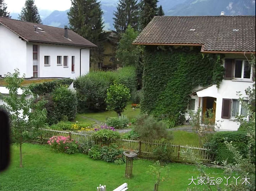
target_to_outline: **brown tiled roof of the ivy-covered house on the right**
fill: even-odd
[[[133,43],[201,45],[202,52],[255,52],[255,16],[155,16]]]

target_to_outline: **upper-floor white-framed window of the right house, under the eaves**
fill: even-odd
[[[247,60],[235,61],[235,78],[251,79],[251,65]]]

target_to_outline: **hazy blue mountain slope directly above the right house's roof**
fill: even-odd
[[[170,16],[255,15],[255,0],[186,0],[165,12]]]

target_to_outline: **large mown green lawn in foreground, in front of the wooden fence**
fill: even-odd
[[[124,178],[126,165],[95,161],[83,154],[55,153],[48,146],[23,144],[23,168],[19,167],[18,147],[12,146],[9,169],[0,174],[0,190],[86,190],[95,191],[99,184],[107,190],[128,183],[130,191],[153,190],[154,177],[150,175],[151,161],[135,160],[133,178]],[[198,177],[194,165],[170,163],[161,172],[160,191],[186,190],[191,176]],[[222,177],[223,170],[207,168],[211,177]],[[202,189],[202,186],[197,186]]]

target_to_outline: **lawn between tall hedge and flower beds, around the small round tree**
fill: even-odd
[[[129,101],[127,103],[126,109],[122,113],[122,115],[128,117],[129,119],[136,118],[140,114],[140,108],[136,108],[135,111],[133,111],[131,105],[132,105],[132,102]],[[96,120],[101,121],[101,122],[106,122],[107,118],[116,117],[117,113],[114,112],[114,111],[104,111],[104,112],[96,112],[96,113],[82,113],[82,114],[78,114],[76,116],[75,120],[76,121],[84,120],[81,116],[96,119]]]

